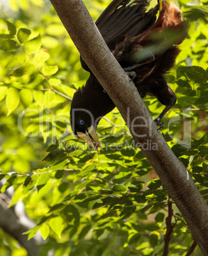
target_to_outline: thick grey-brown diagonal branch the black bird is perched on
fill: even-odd
[[[164,183],[204,255],[208,255],[208,207],[185,166],[154,124],[133,82],[108,49],[81,0],[50,0],[75,46],[112,98],[146,159]],[[141,125],[141,121],[143,125]],[[144,124],[145,122],[145,124]],[[144,143],[157,150],[144,150]]]

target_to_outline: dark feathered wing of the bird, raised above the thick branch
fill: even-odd
[[[154,24],[158,6],[146,11],[148,0],[114,0],[96,21],[110,50],[126,36],[133,38]]]

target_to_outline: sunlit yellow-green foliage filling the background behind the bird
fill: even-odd
[[[179,3],[190,32],[169,73],[178,101],[162,132],[207,201],[207,2]],[[79,53],[49,3],[8,4],[0,20],[1,192],[13,186],[10,206],[22,200],[36,221],[29,239],[41,232],[41,255],[161,255],[168,195],[157,174],[116,109],[98,127],[103,152],[72,136],[70,101],[88,77]],[[108,4],[86,1],[94,20]],[[164,108],[153,97],[145,104],[152,117]],[[172,222],[169,255],[185,255],[192,235],[176,208]],[[1,255],[23,255],[0,236]]]

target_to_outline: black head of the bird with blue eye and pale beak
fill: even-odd
[[[86,97],[82,89],[75,92],[70,110],[70,123],[74,135],[83,139],[89,146],[98,151],[101,148],[96,135],[99,119],[94,119],[94,108],[91,108],[90,97]],[[97,121],[97,122],[96,122]],[[103,150],[101,148],[101,150]]]

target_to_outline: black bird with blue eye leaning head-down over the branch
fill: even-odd
[[[160,0],[155,8],[146,11],[148,5],[148,0],[114,0],[96,25],[115,59],[134,76],[141,97],[155,96],[166,106],[155,120],[162,127],[160,119],[176,103],[176,95],[165,75],[174,66],[180,52],[178,45],[186,38],[188,29],[181,10],[172,1]],[[75,136],[98,151],[101,145],[96,127],[115,104],[82,57],[81,64],[90,75],[86,85],[74,94],[70,122]]]

